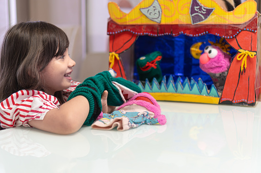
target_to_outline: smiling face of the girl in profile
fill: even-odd
[[[69,88],[74,65],[75,62],[69,57],[68,48],[63,56],[54,57],[42,72],[45,92],[53,95],[56,91]]]

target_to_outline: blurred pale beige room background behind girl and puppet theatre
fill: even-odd
[[[108,2],[129,12],[142,0],[0,0],[0,44],[6,30],[21,21],[42,20],[63,29],[70,40],[69,54],[76,62],[73,79],[82,81],[108,70]],[[245,0],[242,0],[245,1]],[[257,2],[259,11],[260,0]]]

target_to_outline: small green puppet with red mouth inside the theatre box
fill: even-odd
[[[136,61],[137,72],[140,81],[146,81],[146,78],[152,83],[153,78],[160,84],[162,82],[162,70],[159,63],[162,59],[162,53],[159,51],[152,52]]]

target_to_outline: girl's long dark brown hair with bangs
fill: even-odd
[[[42,70],[52,58],[62,56],[68,46],[65,32],[53,24],[30,21],[11,27],[0,55],[0,102],[22,89],[44,91]],[[54,96],[64,103],[62,91]]]

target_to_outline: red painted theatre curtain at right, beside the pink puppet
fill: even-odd
[[[244,65],[243,71],[241,71],[243,59],[237,59],[240,54],[237,52],[231,63],[220,103],[225,101],[233,104],[246,102],[248,105],[255,105],[257,32],[242,31],[236,37],[226,40],[235,50],[249,51],[255,56],[253,58],[247,56],[247,66]]]

